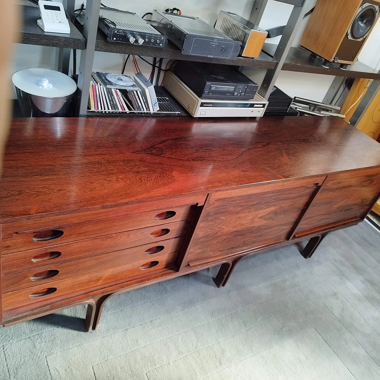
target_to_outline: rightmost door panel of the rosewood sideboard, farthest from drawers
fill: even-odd
[[[296,229],[295,236],[323,230],[331,223],[362,219],[380,192],[380,169],[332,174]]]

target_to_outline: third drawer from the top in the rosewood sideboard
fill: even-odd
[[[157,257],[163,260],[171,256],[172,253],[176,253],[177,255],[181,242],[182,237],[175,237],[174,239],[139,245],[138,247],[123,249],[117,252],[6,274],[2,277],[3,293],[48,284],[71,277],[81,277],[96,273],[99,269],[103,270],[114,266],[120,267],[123,270],[139,268],[141,263],[156,261]]]

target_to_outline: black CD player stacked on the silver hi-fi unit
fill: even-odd
[[[259,87],[228,65],[177,61],[174,72],[199,98],[252,99]]]

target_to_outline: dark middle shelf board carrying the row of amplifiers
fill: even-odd
[[[184,61],[197,61],[197,62],[209,62],[209,63],[219,63],[223,65],[235,65],[235,66],[248,66],[248,67],[258,67],[264,69],[274,69],[277,62],[273,60],[269,55],[264,52],[260,53],[258,58],[242,58],[238,57],[235,60],[230,59],[220,59],[220,58],[207,58],[207,57],[195,57],[193,55],[182,54],[180,49],[178,49],[173,44],[168,43],[164,48],[144,46],[144,45],[133,45],[128,43],[114,43],[108,42],[106,36],[103,32],[98,30],[97,41],[95,44],[95,51],[103,51],[109,53],[118,54],[134,54],[141,55],[143,57],[157,57],[157,58],[167,58],[167,59],[178,59]]]

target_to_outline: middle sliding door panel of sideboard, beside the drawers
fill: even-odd
[[[188,252],[188,265],[285,241],[324,178],[213,193]]]

